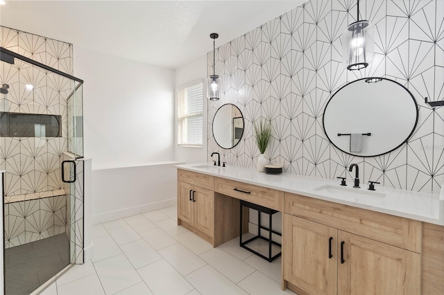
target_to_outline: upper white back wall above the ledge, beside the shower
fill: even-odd
[[[75,46],[74,73],[85,80],[85,155],[93,170],[174,158],[172,69]]]

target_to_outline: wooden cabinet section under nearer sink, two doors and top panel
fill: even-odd
[[[421,293],[421,222],[299,195],[285,197],[284,280],[293,292]],[[390,233],[395,245],[389,244]]]

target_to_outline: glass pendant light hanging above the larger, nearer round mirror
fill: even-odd
[[[366,20],[359,20],[359,0],[357,0],[357,21],[348,25],[342,34],[342,59],[349,71],[366,68],[375,55],[373,26]]]

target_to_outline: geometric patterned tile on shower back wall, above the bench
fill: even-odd
[[[73,71],[72,44],[0,26],[0,46],[65,73]],[[0,111],[62,118],[62,137],[0,138],[0,170],[6,170],[6,196],[63,188],[60,163],[67,150],[66,100],[74,83],[15,59],[15,64],[0,62],[0,84],[9,84],[9,93],[0,95]],[[33,84],[33,91],[26,91],[25,84]]]

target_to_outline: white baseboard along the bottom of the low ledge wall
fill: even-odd
[[[151,204],[144,204],[141,206],[135,206],[125,208],[117,211],[111,211],[108,213],[101,213],[92,215],[92,224],[100,224],[103,222],[110,222],[112,220],[119,220],[121,218],[130,217],[137,214],[142,214],[150,211],[156,211],[159,209],[176,206],[178,204],[177,198],[167,199],[161,202],[155,202]]]

